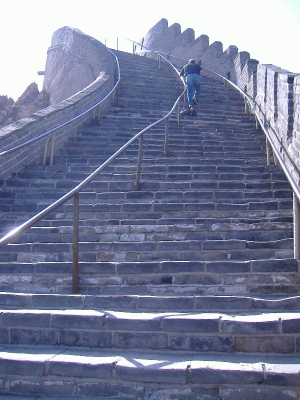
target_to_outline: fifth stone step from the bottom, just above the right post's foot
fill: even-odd
[[[2,261],[70,260],[72,243],[14,243],[0,249]],[[79,242],[79,260],[247,260],[292,255],[291,238],[272,241],[165,240],[142,242]],[[254,253],[254,255],[253,255]],[[252,255],[251,255],[252,254]],[[84,257],[88,257],[87,259]]]

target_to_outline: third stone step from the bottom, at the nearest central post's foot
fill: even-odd
[[[294,312],[300,296],[276,295],[87,295],[0,292],[0,307],[6,309],[111,309],[172,312]]]

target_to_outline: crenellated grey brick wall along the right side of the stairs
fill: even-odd
[[[178,23],[168,27],[164,18],[148,31],[143,44],[185,60],[193,57],[206,68],[230,78],[252,97],[259,107],[265,126],[270,127],[270,135],[289,172],[296,183],[300,183],[299,73],[272,64],[259,64],[250,58],[248,52],[238,52],[235,46],[229,46],[223,51],[220,41],[209,45],[208,36],[203,34],[194,39],[192,29],[188,28],[181,33]],[[141,54],[155,57],[146,51]],[[169,58],[178,67],[185,63],[171,56]],[[208,71],[205,71],[205,76],[220,80]]]

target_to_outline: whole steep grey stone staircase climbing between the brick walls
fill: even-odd
[[[157,61],[117,52],[118,104],[0,191],[0,231],[43,209],[180,90]],[[0,251],[0,400],[300,398],[300,293],[292,192],[233,89],[202,79],[197,117],[144,135],[72,204]],[[49,396],[49,397],[47,397]]]

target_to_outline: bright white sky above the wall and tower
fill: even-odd
[[[189,12],[191,10],[191,12]],[[78,28],[111,48],[132,51],[161,18],[192,28],[209,44],[235,45],[260,63],[300,74],[300,0],[2,0],[0,95],[14,100],[33,81],[42,88],[47,48],[62,26]]]

